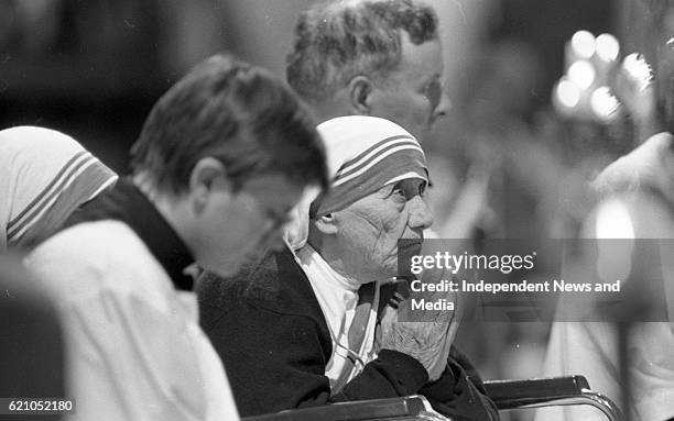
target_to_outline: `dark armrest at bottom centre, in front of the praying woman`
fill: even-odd
[[[246,417],[241,421],[447,421],[433,411],[426,398],[372,399],[331,403],[320,407],[291,409],[264,416]]]

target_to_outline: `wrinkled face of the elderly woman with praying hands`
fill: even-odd
[[[363,282],[395,276],[398,241],[422,240],[433,223],[425,187],[425,180],[403,179],[333,213],[340,272]]]

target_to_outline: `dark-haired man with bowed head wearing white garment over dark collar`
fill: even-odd
[[[305,187],[327,185],[315,124],[270,74],[216,56],[154,104],[131,155],[132,176],[30,256],[63,314],[76,417],[238,419],[189,273],[281,244]]]

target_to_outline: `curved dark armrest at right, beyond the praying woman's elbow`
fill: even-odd
[[[500,410],[589,405],[602,411],[609,420],[622,420],[618,406],[604,395],[591,391],[583,376],[486,381],[485,389]]]

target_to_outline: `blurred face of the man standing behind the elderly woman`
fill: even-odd
[[[374,117],[391,120],[421,140],[449,111],[443,90],[443,49],[438,40],[413,44],[403,31],[399,67],[372,95]]]

